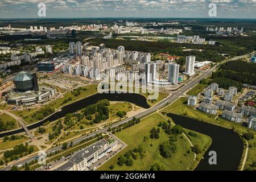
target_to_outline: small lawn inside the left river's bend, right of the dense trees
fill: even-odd
[[[127,113],[133,110],[133,106],[128,102],[117,102],[115,104],[110,104],[108,107],[109,107],[110,120],[119,118],[117,116],[117,111],[126,111]]]

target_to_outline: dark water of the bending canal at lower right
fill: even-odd
[[[237,170],[243,153],[243,143],[236,133],[224,127],[196,121],[195,119],[185,118],[176,114],[168,113],[167,116],[185,129],[197,131],[212,138],[212,144],[207,152],[205,152],[204,159],[200,160],[195,170]],[[216,151],[216,165],[209,164],[209,151]]]

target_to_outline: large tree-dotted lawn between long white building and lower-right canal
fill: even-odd
[[[149,138],[150,130],[152,127],[158,127],[159,122],[166,121],[159,114],[152,114],[134,126],[131,126],[125,130],[115,133],[115,135],[127,144],[121,152],[109,159],[108,162],[103,164],[98,170],[109,170],[109,166],[113,165],[114,170],[149,170],[151,166],[155,163],[162,164],[165,170],[187,170],[189,165],[193,160],[193,153],[187,154],[186,151],[190,149],[190,145],[182,135],[177,137],[177,150],[171,158],[163,158],[159,153],[159,145],[168,140],[168,135],[164,133],[163,129],[160,129],[159,139]],[[144,137],[148,137],[144,142]],[[152,146],[150,144],[152,143]],[[146,158],[133,160],[133,166],[118,166],[117,159],[120,155],[125,154],[126,151],[132,150],[134,147],[138,147],[142,144],[144,150],[146,151]]]

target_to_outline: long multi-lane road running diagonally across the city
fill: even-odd
[[[232,61],[232,60],[238,60],[238,59],[241,59],[242,57],[244,56],[237,56],[237,57],[233,57],[232,59],[229,59],[228,61]],[[216,64],[214,67],[210,68],[208,71],[204,71],[204,72],[201,72],[201,75],[200,76],[197,76],[196,78],[194,78],[194,80],[191,80],[190,82],[188,82],[186,85],[183,85],[179,90],[177,90],[177,92],[174,92],[171,96],[168,96],[166,97],[164,100],[158,102],[158,104],[154,105],[153,107],[151,107],[150,109],[144,111],[143,113],[139,113],[137,115],[135,115],[136,118],[142,118],[150,113],[153,113],[154,111],[166,106],[167,104],[170,104],[171,102],[174,102],[175,100],[177,100],[177,98],[179,98],[180,96],[183,96],[183,94],[185,92],[187,92],[187,90],[189,90],[190,88],[193,88],[193,86],[197,85],[201,79],[209,76],[212,71],[214,71],[214,69],[216,69],[218,67],[218,65],[220,64]],[[118,123],[114,123],[112,125],[112,127],[117,127],[118,125],[121,125],[123,123],[126,123],[128,121],[130,121],[131,119],[133,118],[127,118],[127,119],[124,119],[123,121],[121,122],[118,122]],[[91,134],[88,134],[88,135],[85,135],[81,138],[78,138],[78,139],[75,139],[73,140],[73,145],[77,144],[77,143],[80,143],[81,140],[84,140],[86,138],[89,138],[89,137],[94,137],[95,135],[97,135],[98,133],[104,133],[104,132],[107,132],[108,130],[108,127],[104,128],[104,129],[101,129],[101,130],[98,130],[98,131],[94,131],[93,133]],[[49,154],[51,152],[55,152],[55,151],[59,151],[59,150],[62,150],[61,149],[62,146],[57,146],[57,147],[54,147],[48,151],[46,151],[46,154]],[[25,164],[25,163],[28,163],[30,162],[31,160],[34,160],[36,156],[32,156],[30,158],[27,158],[27,159],[24,159],[20,162],[16,162],[14,165],[15,166],[18,166],[19,164]],[[6,171],[6,170],[9,170],[11,167],[10,166],[7,166],[5,168],[2,168],[0,169],[0,171]]]

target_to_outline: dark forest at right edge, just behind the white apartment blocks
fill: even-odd
[[[256,85],[255,70],[256,65],[254,63],[248,63],[242,60],[229,61],[221,65],[220,69],[212,74],[212,77],[221,77],[221,80],[229,78],[230,80],[237,81],[239,84]]]

